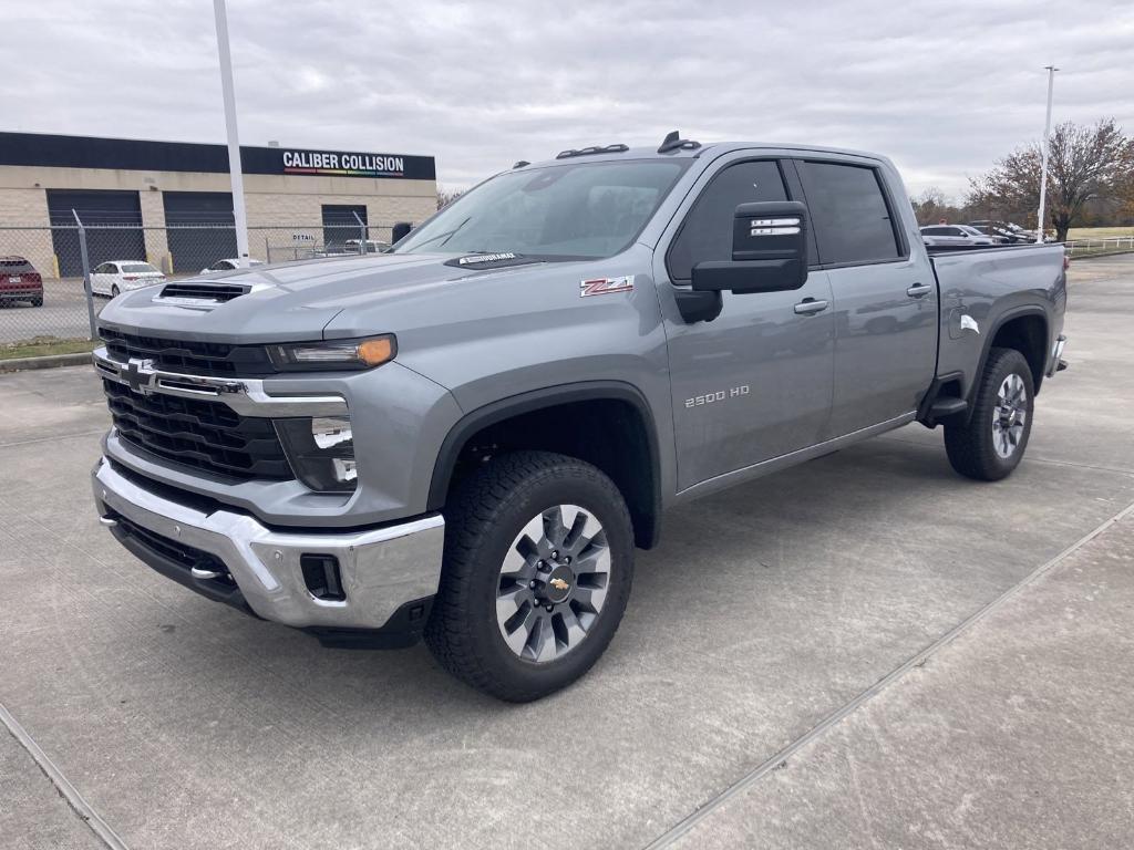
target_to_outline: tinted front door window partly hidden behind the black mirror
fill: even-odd
[[[733,258],[733,216],[741,204],[787,201],[779,163],[737,162],[712,178],[685,216],[667,257],[670,280],[688,282],[693,266]]]

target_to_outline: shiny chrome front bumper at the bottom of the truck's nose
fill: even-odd
[[[151,493],[104,459],[92,484],[101,518],[119,515],[214,555],[265,620],[297,628],[378,629],[403,604],[437,593],[445,545],[440,515],[362,532],[277,532],[244,513],[205,513]],[[338,559],[344,601],[311,595],[299,567],[305,553]]]

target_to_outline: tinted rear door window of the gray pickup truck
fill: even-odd
[[[799,177],[824,264],[902,256],[874,169],[805,162]]]

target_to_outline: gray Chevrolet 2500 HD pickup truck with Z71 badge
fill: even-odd
[[[881,156],[565,151],[389,253],[116,298],[95,503],[198,594],[330,646],[424,636],[535,699],[606,649],[671,505],[912,422],[1008,475],[1063,366],[1065,269],[931,255]]]

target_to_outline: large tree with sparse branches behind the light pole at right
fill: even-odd
[[[1041,161],[1040,144],[1016,148],[991,171],[970,179],[968,205],[1027,220],[1040,205]],[[1092,127],[1072,121],[1058,125],[1050,139],[1047,197],[1056,239],[1067,238],[1088,202],[1120,198],[1132,168],[1134,141],[1123,135],[1112,118]]]

